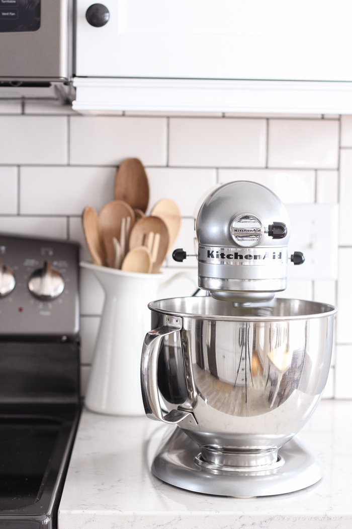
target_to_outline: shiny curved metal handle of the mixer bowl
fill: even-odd
[[[177,424],[188,417],[189,423],[196,425],[197,421],[192,411],[179,409],[180,406],[178,409],[172,409],[168,414],[163,415],[159,398],[157,370],[161,339],[168,334],[181,331],[182,325],[182,318],[167,316],[166,325],[146,334],[140,364],[140,384],[144,409],[149,419],[166,424]]]

